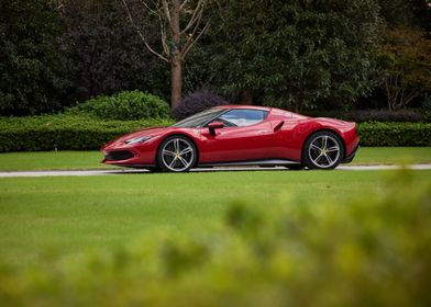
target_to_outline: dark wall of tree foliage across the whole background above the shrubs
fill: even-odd
[[[424,98],[430,21],[429,0],[1,1],[0,114],[57,112],[136,89],[172,102],[205,89],[232,102],[344,110],[373,90],[383,98],[376,79],[401,62],[408,71],[424,64],[421,84],[412,84],[417,72],[407,78]],[[422,59],[387,37],[378,53],[379,25],[385,37],[423,30],[417,46],[406,37]]]

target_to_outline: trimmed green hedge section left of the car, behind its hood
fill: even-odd
[[[107,141],[170,120],[103,121],[78,115],[0,117],[0,152],[99,149]]]

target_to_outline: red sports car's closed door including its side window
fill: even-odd
[[[254,109],[233,109],[217,120],[224,124],[211,135],[202,128],[202,163],[267,159],[273,138],[268,112]]]

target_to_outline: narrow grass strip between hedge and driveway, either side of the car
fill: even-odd
[[[108,169],[99,151],[0,154],[0,171]],[[431,163],[431,147],[363,147],[353,164]]]

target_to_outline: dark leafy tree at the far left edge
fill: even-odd
[[[48,1],[0,2],[0,114],[27,115],[62,107],[68,86],[60,61],[59,14]]]

